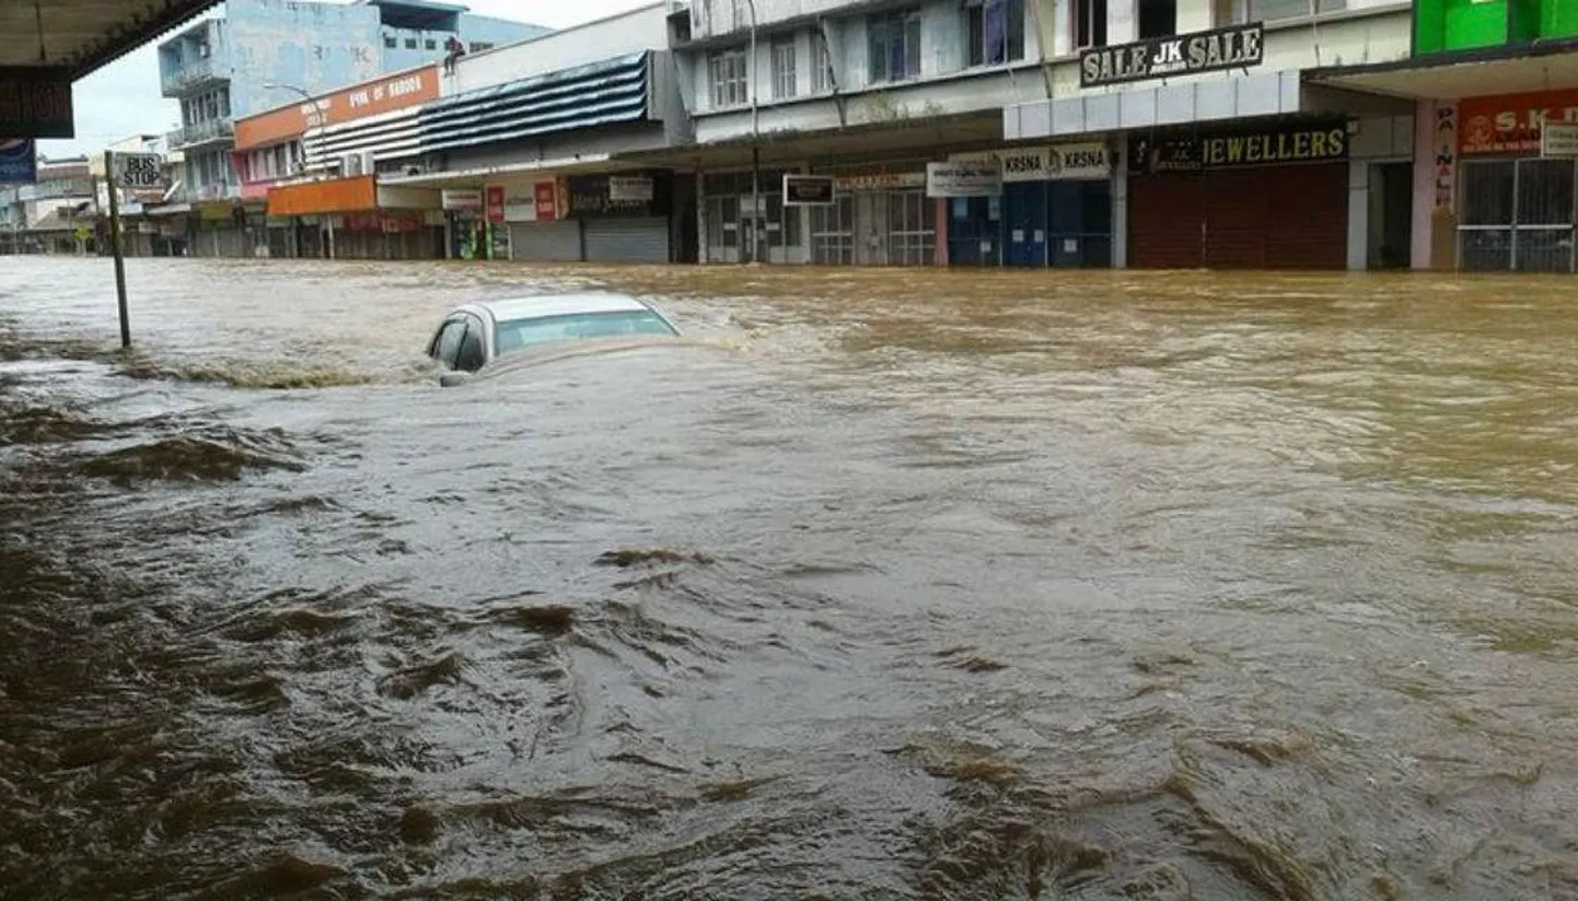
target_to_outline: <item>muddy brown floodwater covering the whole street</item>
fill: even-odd
[[[0,896],[1578,898],[1572,279],[129,281],[0,259]]]

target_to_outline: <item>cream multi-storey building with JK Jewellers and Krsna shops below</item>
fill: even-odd
[[[697,0],[690,28],[709,260],[1408,260],[1414,104],[1313,84],[1406,58],[1406,2]],[[784,172],[833,193],[786,210]]]

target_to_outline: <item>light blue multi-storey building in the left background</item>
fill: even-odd
[[[230,0],[222,17],[159,44],[163,93],[181,106],[181,128],[169,137],[186,159],[183,197],[238,197],[230,150],[240,117],[431,63],[451,41],[481,52],[543,32],[426,0]]]

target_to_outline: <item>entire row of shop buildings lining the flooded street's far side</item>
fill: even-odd
[[[241,117],[178,215],[196,254],[1573,271],[1575,159],[1570,0],[671,0]]]

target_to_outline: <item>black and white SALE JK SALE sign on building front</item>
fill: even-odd
[[[1079,87],[1242,69],[1258,66],[1264,58],[1266,28],[1259,22],[1250,22],[1116,47],[1090,47],[1079,54]]]

